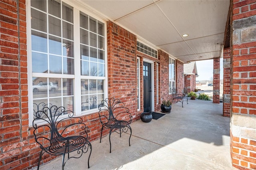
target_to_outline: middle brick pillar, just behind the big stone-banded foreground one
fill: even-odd
[[[223,116],[230,117],[230,48],[223,51]]]

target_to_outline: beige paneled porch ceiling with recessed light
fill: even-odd
[[[220,57],[229,0],[80,2],[184,63]]]

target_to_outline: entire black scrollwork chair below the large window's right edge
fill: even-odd
[[[110,129],[109,132],[109,143],[110,143],[110,153],[111,153],[111,141],[110,136],[112,132],[117,132],[121,134],[122,132],[127,132],[130,129],[130,138],[132,136],[132,128],[130,123],[132,122],[132,114],[130,114],[129,109],[124,106],[123,102],[120,102],[119,99],[106,98],[101,101],[101,104],[98,106],[100,123],[102,124],[100,142],[102,137],[103,128]],[[130,145],[129,138],[129,146]]]

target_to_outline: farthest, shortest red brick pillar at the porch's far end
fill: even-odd
[[[220,103],[220,58],[213,59],[213,103]]]

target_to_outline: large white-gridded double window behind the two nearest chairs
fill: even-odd
[[[60,0],[32,0],[30,12],[34,113],[45,105],[76,114],[97,108],[106,80],[104,23]]]

